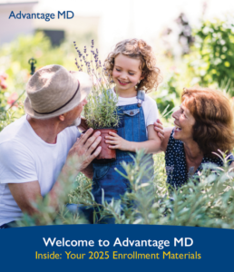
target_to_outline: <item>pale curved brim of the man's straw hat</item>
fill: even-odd
[[[68,102],[67,104],[66,102],[64,102],[65,105],[58,111],[41,114],[38,112],[34,112],[34,109],[32,108],[29,98],[26,97],[24,101],[24,112],[29,114],[31,117],[35,119],[48,119],[48,118],[59,116],[60,114],[63,114],[65,112],[72,111],[74,107],[76,107],[80,102],[82,102],[89,95],[92,89],[92,81],[90,79],[90,76],[87,73],[73,72],[73,71],[70,73],[77,80],[77,85],[75,89],[73,90],[73,93],[77,90],[78,81],[80,83],[78,92],[75,94],[71,102]]]

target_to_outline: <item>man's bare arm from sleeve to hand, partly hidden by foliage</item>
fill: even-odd
[[[98,156],[102,148],[96,149],[101,141],[99,133],[96,132],[90,137],[92,133],[93,129],[90,129],[74,143],[63,166],[62,175],[68,175],[72,172],[75,176],[79,171],[83,171],[89,178],[93,177],[93,170],[90,164],[91,161]],[[71,163],[71,160],[75,163]],[[73,169],[73,167],[75,167],[75,169]],[[63,190],[62,185],[63,184],[56,181],[53,189],[48,193],[49,205],[54,208],[56,208],[58,204],[59,192]],[[23,183],[13,182],[8,183],[8,186],[17,205],[23,212],[26,212],[31,216],[38,213],[38,210],[32,205],[33,202],[43,199],[38,180]]]

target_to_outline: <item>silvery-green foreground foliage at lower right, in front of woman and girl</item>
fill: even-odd
[[[234,228],[234,180],[227,160],[224,168],[213,172],[208,167],[200,173],[199,183],[190,180],[170,195],[165,194],[167,189],[158,179],[159,173],[141,184],[141,175],[147,170],[140,164],[142,158],[142,152],[138,152],[134,166],[122,163],[132,192],[126,192],[122,201],[102,203],[116,223]]]

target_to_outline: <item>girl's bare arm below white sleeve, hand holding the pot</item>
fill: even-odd
[[[138,151],[144,149],[146,153],[157,153],[161,151],[161,139],[157,135],[157,132],[154,131],[154,126],[149,125],[148,130],[148,141],[136,142],[136,141],[127,141],[122,139],[119,135],[114,132],[109,132],[111,136],[105,136],[106,143],[110,143],[110,149],[117,149],[121,151]]]

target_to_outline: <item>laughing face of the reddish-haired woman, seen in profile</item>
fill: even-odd
[[[180,141],[193,141],[192,126],[195,124],[195,119],[191,115],[189,109],[184,106],[184,102],[181,103],[180,110],[174,112],[172,117],[175,119],[174,139]]]

